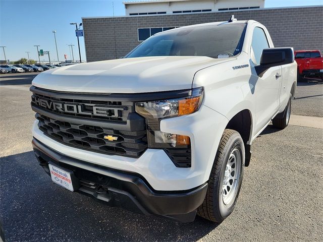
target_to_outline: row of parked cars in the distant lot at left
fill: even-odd
[[[42,72],[61,65],[35,64],[35,65],[0,65],[0,73]]]

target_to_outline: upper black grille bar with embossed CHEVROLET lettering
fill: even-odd
[[[85,117],[85,118],[95,118],[103,120],[111,120],[114,122],[126,122],[129,113],[135,111],[133,102],[123,102],[123,101],[109,101],[109,100],[84,100],[79,97],[77,98],[66,98],[66,97],[55,97],[47,96],[39,93],[33,93],[31,96],[31,102],[33,105],[43,108],[47,111],[64,114],[71,117]],[[61,111],[57,105],[67,104],[67,110]],[[93,113],[93,108],[107,109],[106,115],[95,115]],[[118,109],[118,110],[117,110]],[[101,111],[102,113],[102,111]]]

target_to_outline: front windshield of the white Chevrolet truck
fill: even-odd
[[[177,28],[151,36],[125,58],[143,56],[208,56],[225,58],[241,52],[246,24]]]

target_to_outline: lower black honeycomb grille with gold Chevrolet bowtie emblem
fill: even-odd
[[[147,149],[147,134],[143,131],[117,131],[103,127],[63,122],[36,113],[39,129],[62,144],[93,152],[138,158]],[[117,137],[116,141],[104,136]]]

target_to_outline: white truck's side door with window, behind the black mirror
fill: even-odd
[[[261,77],[257,76],[254,67],[260,65],[262,50],[269,48],[268,40],[265,32],[260,27],[255,27],[253,30],[251,43],[251,61],[254,65],[251,66],[254,85],[254,100],[256,109],[255,130],[256,133],[270,122],[271,118],[278,111],[280,101],[280,89],[282,83],[282,67],[272,67],[268,69]]]

